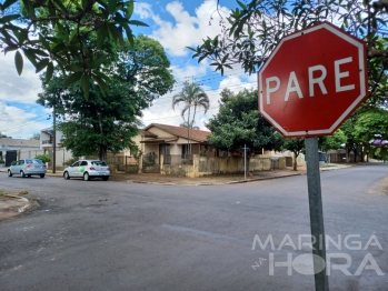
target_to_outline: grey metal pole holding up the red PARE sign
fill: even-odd
[[[306,138],[305,149],[316,291],[328,291],[329,280],[326,272],[326,243],[322,197],[320,188],[318,139]]]

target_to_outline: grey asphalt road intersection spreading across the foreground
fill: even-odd
[[[330,290],[388,290],[387,177],[386,164],[321,173]],[[195,187],[2,173],[0,189],[41,204],[0,222],[2,291],[314,290],[306,175]]]

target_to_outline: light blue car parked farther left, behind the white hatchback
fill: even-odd
[[[39,159],[21,159],[8,169],[8,177],[20,174],[22,178],[40,175],[44,178],[47,172],[46,164]]]

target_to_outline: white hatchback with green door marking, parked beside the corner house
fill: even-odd
[[[101,178],[108,181],[110,177],[109,167],[105,161],[99,160],[79,160],[63,170],[63,178],[82,178],[89,181],[92,178]]]

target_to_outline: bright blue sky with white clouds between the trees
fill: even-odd
[[[225,16],[229,9],[237,7],[235,0],[220,0],[219,4]],[[217,0],[136,2],[133,19],[148,23],[149,28],[137,28],[135,32],[152,37],[165,47],[177,80],[172,92],[160,97],[150,109],[143,111],[145,126],[152,122],[179,126],[182,122],[180,108],[172,110],[171,102],[183,81],[200,83],[209,96],[210,110],[206,114],[198,112],[196,118],[196,126],[203,130],[207,120],[218,112],[222,88],[238,92],[243,88],[257,87],[256,76],[246,76],[240,67],[221,77],[219,72],[213,72],[208,61],[198,63],[186,49],[197,47],[207,36],[215,37],[220,32],[216,7]],[[41,83],[28,60],[24,61],[21,77],[16,72],[13,53],[0,56],[0,132],[12,138],[30,138],[34,132],[50,127],[50,110],[36,103]]]

